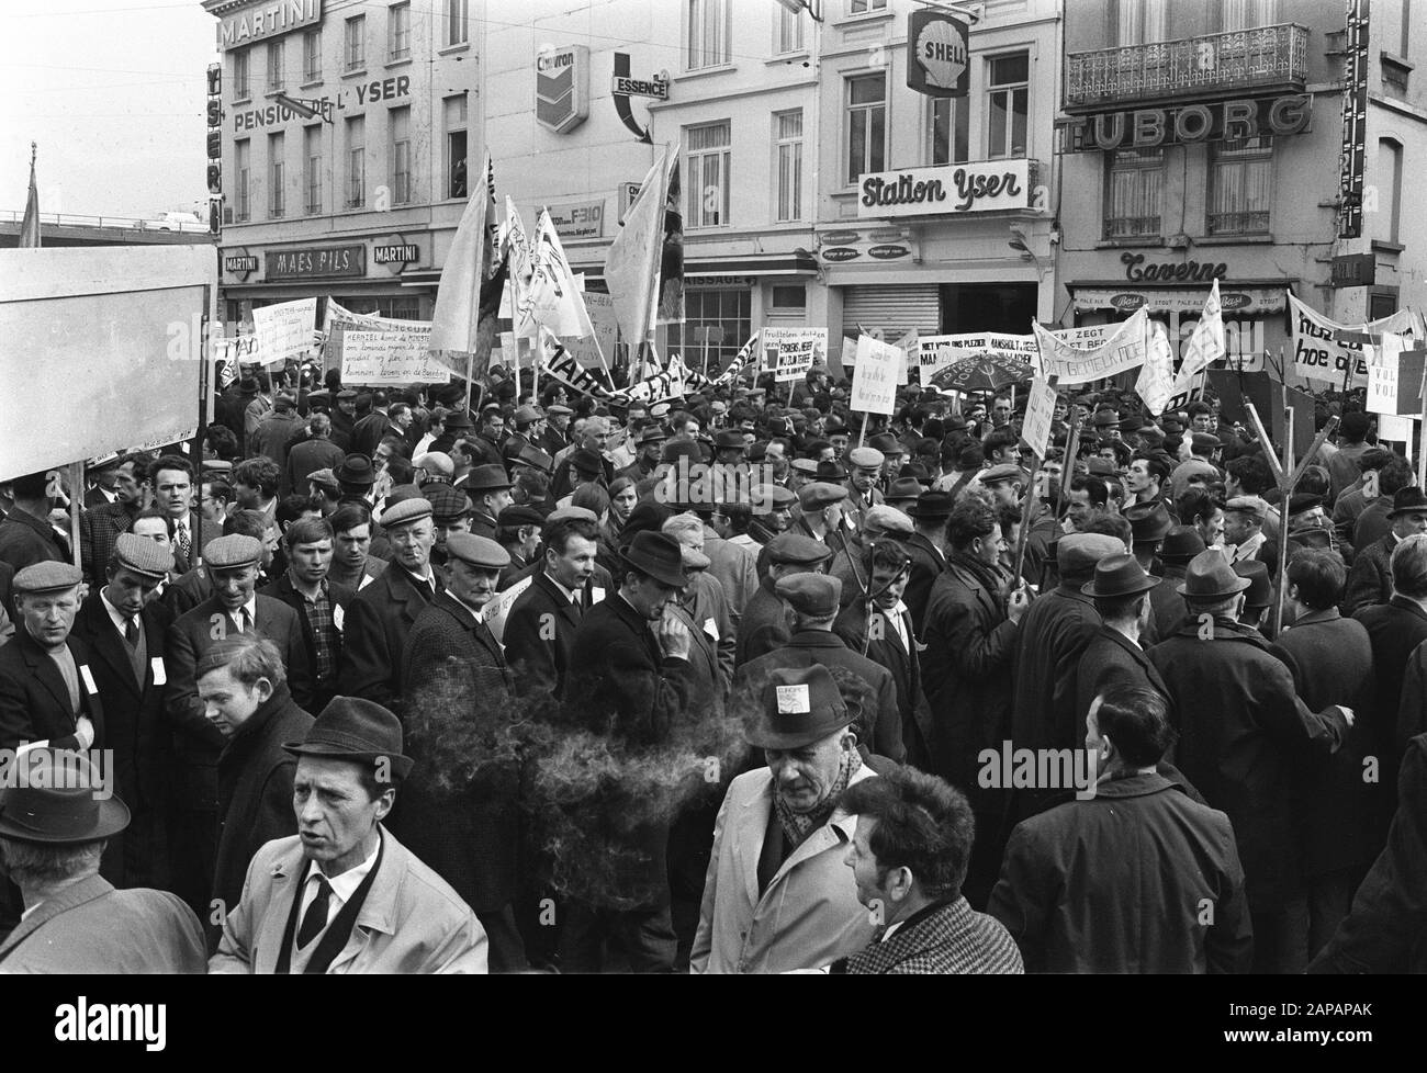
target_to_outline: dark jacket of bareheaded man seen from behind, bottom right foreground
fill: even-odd
[[[1095,789],[1010,836],[987,910],[1015,936],[1026,969],[1247,972],[1253,939],[1229,816],[1159,773]]]

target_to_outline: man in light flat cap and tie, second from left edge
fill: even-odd
[[[90,671],[104,698],[104,748],[128,805],[128,828],[110,839],[104,878],[116,886],[168,885],[168,802],[173,735],[164,718],[167,615],[150,599],[173,569],[161,544],[118,535],[106,584],[90,589],[74,636],[90,649]]]

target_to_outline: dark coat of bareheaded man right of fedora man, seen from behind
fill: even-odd
[[[1330,608],[1297,619],[1276,644],[1293,658],[1303,703],[1314,712],[1343,705],[1357,716],[1336,753],[1296,765],[1304,875],[1370,865],[1386,835],[1378,818],[1391,808],[1381,783],[1363,778],[1368,736],[1391,729],[1391,713],[1373,711],[1373,642],[1361,622]]]

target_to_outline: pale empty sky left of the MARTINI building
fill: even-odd
[[[0,1],[0,211],[24,208],[34,141],[41,213],[207,220],[198,0]]]

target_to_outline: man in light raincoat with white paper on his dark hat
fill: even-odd
[[[838,808],[843,789],[875,778],[852,719],[825,666],[769,673],[743,731],[768,766],[733,779],[719,809],[695,973],[816,969],[872,942],[843,863],[858,818]]]

